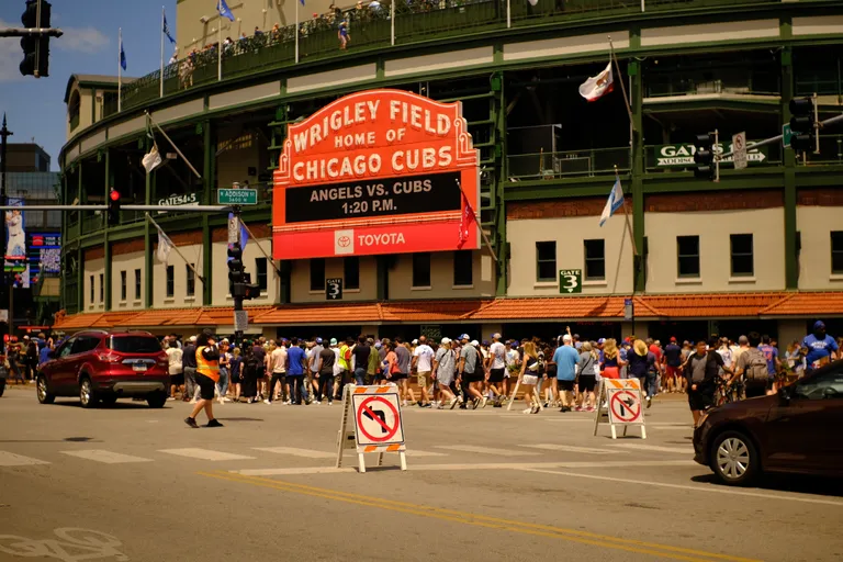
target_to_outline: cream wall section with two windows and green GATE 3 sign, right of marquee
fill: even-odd
[[[583,240],[604,239],[606,279],[583,279],[583,294],[629,294],[632,291],[632,244],[622,217],[615,217],[603,227],[597,216],[564,218],[513,220],[506,226],[512,245],[509,259],[509,296],[558,295],[559,279],[540,282],[536,279],[536,243],[557,243],[557,270],[581,269],[585,277]]]

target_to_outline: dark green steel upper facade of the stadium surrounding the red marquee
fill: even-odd
[[[717,183],[695,179],[690,167],[660,167],[654,151],[656,146],[687,144],[694,134],[716,126],[729,135],[751,131],[751,140],[773,136],[789,120],[788,102],[796,95],[816,92],[820,95],[821,119],[838,114],[843,100],[843,2],[685,0],[647,2],[642,12],[638,3],[577,1],[544,8],[540,0],[530,13],[527,2],[513,4],[510,27],[504,5],[471,3],[398,18],[398,40],[394,46],[387,21],[358,31],[356,43],[347,52],[336,48],[334,33],[325,34],[324,41],[313,35],[299,64],[292,58],[289,42],[256,48],[224,59],[221,81],[216,80],[215,61],[198,67],[193,86],[187,89],[179,89],[175,72],[166,74],[162,98],[158,93],[157,72],[139,79],[124,90],[122,112],[116,112],[113,95],[106,95],[102,119],[92,125],[74,128],[78,115],[69,116],[70,138],[60,157],[63,200],[102,202],[108,190],[115,187],[137,204],[154,204],[173,191],[196,192],[200,203],[214,204],[216,190],[229,187],[220,183],[215,159],[223,145],[233,142],[227,133],[227,137],[223,136],[233,126],[254,127],[260,133],[257,136],[262,140],[254,149],[261,151],[258,158],[266,164],[258,170],[257,182],[265,188],[288,123],[351,91],[401,88],[440,101],[463,103],[474,145],[481,150],[481,222],[498,258],[498,295],[505,295],[507,288],[507,204],[605,198],[616,167],[627,194],[631,195],[636,244],[644,249],[649,195],[720,192],[730,198],[755,190],[780,192],[785,207],[783,289],[798,288],[797,193],[800,189],[843,186],[843,150],[839,142],[843,131],[823,132],[820,155],[808,155],[803,161],[797,161],[791,150],[771,147],[763,166],[745,170],[724,167]],[[672,32],[686,38],[676,40],[670,36]],[[616,42],[630,101],[631,127],[627,110],[619,101],[619,88],[610,94],[616,98],[596,102],[611,104],[610,110],[600,112],[594,110],[597,105],[589,104],[589,113],[572,115],[581,112],[574,105],[574,101],[582,102],[576,94],[578,85],[608,61],[608,36]],[[621,37],[623,41],[619,41]],[[596,46],[589,47],[591,44]],[[488,59],[484,58],[486,52],[491,55]],[[477,53],[482,56],[476,60],[469,57],[465,65],[453,64]],[[423,64],[432,60],[423,57],[431,56],[438,57],[435,64]],[[396,61],[414,58],[419,60],[416,68],[391,70],[398,68]],[[364,78],[355,78],[357,68]],[[366,74],[369,68],[373,68],[371,77]],[[308,76],[330,74],[340,76],[341,80],[336,82],[341,83],[331,85],[326,78],[326,86],[302,86],[307,83]],[[278,90],[267,93],[266,85],[274,83]],[[79,87],[86,88],[83,83]],[[214,101],[226,92],[249,88],[261,95],[236,103]],[[150,140],[143,119],[136,127],[121,128],[120,124],[143,117],[147,111],[165,115],[168,108],[190,103],[195,111],[182,111],[183,114],[165,120],[164,128],[182,146],[202,179],[181,172],[173,175],[177,178],[159,172],[145,175],[138,159],[149,149]],[[667,125],[668,122],[672,124]],[[516,150],[512,146],[513,131],[518,127],[548,127],[557,123],[562,127],[554,154],[525,154],[524,148]],[[119,131],[128,132],[116,136]],[[167,151],[160,138],[158,142],[161,151]],[[544,173],[544,158],[559,159],[561,168]],[[574,160],[587,165],[581,169]],[[524,165],[525,161],[528,164]],[[571,168],[566,168],[569,164]],[[532,168],[535,173],[525,171]],[[262,189],[261,193],[261,204],[249,207],[244,215],[249,224],[271,222],[269,192]],[[201,231],[204,256],[211,256],[212,231],[224,226],[225,220],[178,213],[157,218],[170,233]],[[68,314],[82,311],[87,250],[103,249],[106,311],[112,310],[112,245],[143,239],[147,249],[146,271],[151,271],[154,227],[131,212],[123,212],[122,223],[105,228],[101,215],[68,213],[63,233],[66,274],[61,296]],[[645,268],[639,262],[645,259],[645,251],[643,255],[633,268],[636,291],[645,288]],[[224,266],[214,265],[211,259],[202,263],[206,282],[201,301],[211,305],[212,273]],[[279,303],[283,303],[290,299],[290,267],[282,262],[280,268]],[[389,299],[386,272],[386,260],[379,259],[381,299]],[[153,276],[146,276],[147,303],[153,302],[151,293]]]

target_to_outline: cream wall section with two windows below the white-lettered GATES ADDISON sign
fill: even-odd
[[[645,228],[650,249],[648,292],[744,292],[785,289],[785,225],[782,209],[648,213]],[[753,277],[731,277],[731,234],[753,235]],[[693,235],[699,236],[700,276],[698,279],[678,279],[676,237]]]

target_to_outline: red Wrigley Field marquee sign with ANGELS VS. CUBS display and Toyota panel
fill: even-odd
[[[477,249],[479,160],[460,102],[346,95],[288,128],[273,258]]]

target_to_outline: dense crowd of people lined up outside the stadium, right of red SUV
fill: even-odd
[[[311,339],[263,337],[233,346],[210,334],[182,346],[165,338],[172,386],[179,397],[249,404],[331,405],[346,384],[395,384],[404,407],[477,409],[502,407],[518,395],[525,414],[544,408],[594,412],[602,379],[639,379],[647,407],[660,393],[687,393],[695,425],[701,414],[729,394],[732,400],[775,393],[785,382],[831,360],[843,359],[843,338],[835,340],[818,322],[812,334],[794,341],[779,357],[777,341],[751,331],[737,340],[712,336],[696,342],[675,337],[662,346],[634,336],[618,341],[583,341],[577,334],[547,342],[539,338],[488,341],[468,334],[430,341],[396,337]],[[203,389],[199,348],[213,347],[214,385]],[[205,369],[205,372],[207,369]],[[413,384],[415,383],[415,384]],[[720,393],[720,394],[719,394]]]

